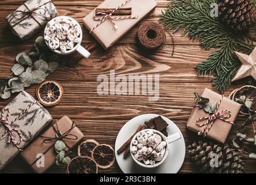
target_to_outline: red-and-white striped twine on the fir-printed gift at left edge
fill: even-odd
[[[35,101],[35,102],[32,102],[30,103],[30,105],[28,105],[28,107],[26,109],[24,109],[18,116],[16,116],[10,123],[8,122],[9,121],[9,115],[10,115],[10,109],[9,108],[4,108],[2,110],[2,113],[1,113],[1,117],[0,117],[0,123],[2,123],[6,130],[5,132],[0,136],[0,139],[3,139],[5,138],[5,136],[8,134],[10,136],[10,139],[8,140],[8,143],[12,142],[14,146],[16,146],[20,151],[22,150],[19,145],[20,143],[22,142],[22,135],[21,135],[21,132],[16,129],[16,128],[13,128],[12,127],[12,124],[17,120],[19,119],[21,116],[23,116],[23,114],[25,112],[27,112],[28,109],[31,108],[31,106],[35,105],[35,103],[38,103],[38,101]],[[7,111],[7,115],[6,115],[6,119],[4,119],[4,113]],[[14,132],[16,132],[18,135],[19,135],[19,140],[16,141],[15,138],[14,138]]]

